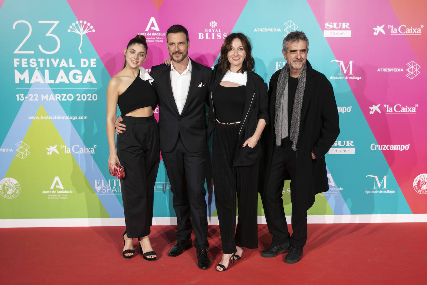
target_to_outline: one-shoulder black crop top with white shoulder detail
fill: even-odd
[[[157,97],[148,80],[142,80],[139,73],[131,85],[119,95],[117,104],[122,115],[126,115],[136,109],[151,106],[155,109]]]

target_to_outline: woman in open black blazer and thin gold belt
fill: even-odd
[[[228,35],[209,86],[208,133],[213,131],[213,184],[222,241],[217,271],[240,259],[244,247],[258,247],[258,140],[269,116],[267,85],[253,72],[251,51],[245,35]],[[239,218],[234,235],[236,193]]]

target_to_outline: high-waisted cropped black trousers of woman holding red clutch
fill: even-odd
[[[117,155],[125,167],[121,179],[123,209],[128,238],[150,233],[153,197],[160,162],[159,133],[154,116],[123,116],[126,131],[117,135]]]

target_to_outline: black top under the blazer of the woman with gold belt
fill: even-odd
[[[242,119],[245,107],[245,85],[224,87],[219,85],[213,92],[216,119],[222,123],[234,123]]]

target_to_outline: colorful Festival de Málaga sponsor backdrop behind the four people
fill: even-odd
[[[143,66],[163,62],[173,24],[187,27],[189,56],[209,67],[228,34],[245,33],[267,83],[286,64],[284,37],[304,31],[341,129],[326,155],[330,190],[309,221],[427,221],[425,15],[424,0],[0,0],[0,226],[124,224],[107,167],[106,89],[138,33],[149,47]],[[210,178],[206,188],[216,223]],[[163,162],[154,191],[154,223],[174,223]],[[288,181],[287,215],[290,191]]]

